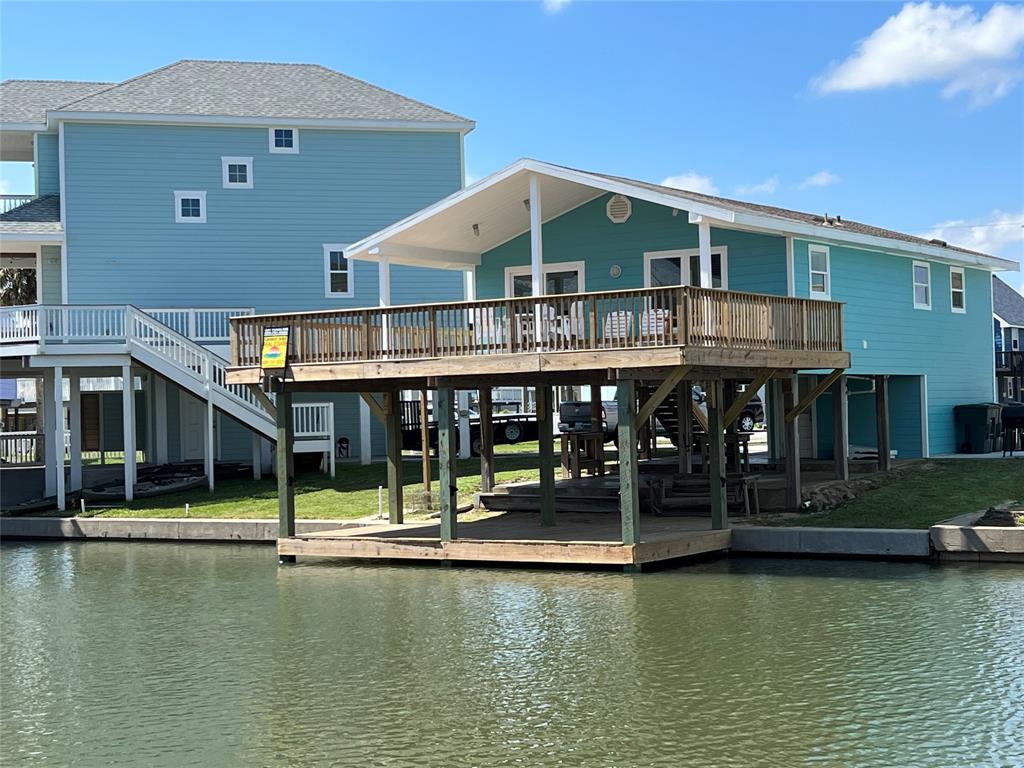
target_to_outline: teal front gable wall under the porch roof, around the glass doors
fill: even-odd
[[[608,220],[602,196],[544,224],[544,261],[586,262],[586,290],[641,288],[644,253],[697,247],[697,227],[686,214],[633,201],[633,215],[624,224]],[[712,228],[712,246],[728,248],[729,288],[785,295],[785,239],[768,234]],[[505,268],[529,264],[529,233],[484,253],[476,270],[476,295],[505,295]],[[622,267],[617,279],[609,273]]]

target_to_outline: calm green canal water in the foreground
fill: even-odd
[[[32,544],[0,642],[4,765],[1024,765],[1014,566]]]

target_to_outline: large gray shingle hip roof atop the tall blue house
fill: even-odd
[[[318,65],[182,60],[62,104],[69,112],[470,123]]]

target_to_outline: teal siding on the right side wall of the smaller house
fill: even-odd
[[[804,241],[794,244],[798,296],[808,295],[807,245]],[[836,245],[829,246],[829,252],[831,297],[846,304],[850,373],[928,376],[931,453],[954,451],[953,406],[992,398],[990,273],[965,270],[967,312],[958,314],[950,310],[949,267],[932,263],[932,309],[914,309],[911,259]],[[912,386],[905,393],[908,398]],[[920,395],[913,397],[920,400]],[[920,406],[918,410],[920,413]],[[920,422],[920,415],[913,418]],[[856,442],[852,411],[850,422],[851,440]],[[912,424],[907,422],[901,428],[909,434]],[[920,424],[918,429],[920,434]],[[871,441],[867,444],[873,444],[873,423],[869,431]],[[894,432],[894,446],[895,440]]]

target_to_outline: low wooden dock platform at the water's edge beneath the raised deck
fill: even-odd
[[[554,526],[542,526],[538,514],[508,512],[459,523],[459,538],[440,540],[440,525],[352,525],[278,540],[281,555],[463,561],[620,565],[646,563],[720,552],[729,548],[731,531],[712,530],[707,517],[642,515],[640,540],[622,544],[617,514],[564,513]]]

